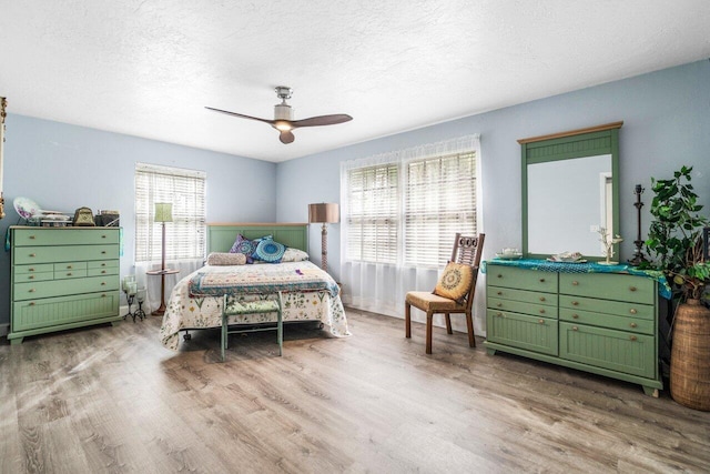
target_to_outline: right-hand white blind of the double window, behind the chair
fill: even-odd
[[[476,234],[476,154],[453,153],[406,163],[404,261],[438,266],[457,232]]]

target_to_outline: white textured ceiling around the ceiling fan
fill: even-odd
[[[707,0],[0,0],[10,113],[268,161],[710,57]],[[298,129],[266,119],[275,85]]]

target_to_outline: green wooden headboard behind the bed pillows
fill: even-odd
[[[308,251],[308,224],[306,223],[207,223],[207,254],[229,252],[236,234],[246,239],[273,235],[286,246]]]

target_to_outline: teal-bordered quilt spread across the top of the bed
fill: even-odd
[[[335,297],[339,292],[335,280],[311,262],[233,266],[221,272],[211,271],[211,266],[205,269],[190,279],[191,296],[327,290]]]

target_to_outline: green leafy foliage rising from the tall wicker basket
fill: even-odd
[[[657,264],[683,293],[684,299],[700,299],[710,281],[710,266],[702,255],[702,228],[708,219],[699,214],[691,181],[692,167],[682,167],[671,180],[651,178],[650,213],[653,216],[646,245]]]

